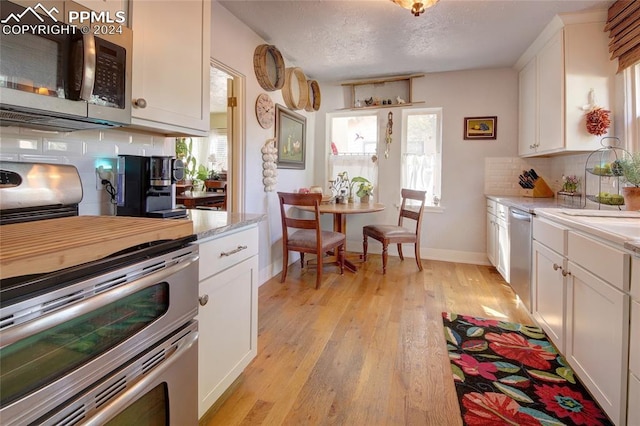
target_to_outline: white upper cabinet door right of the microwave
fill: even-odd
[[[211,3],[132,0],[130,10],[132,127],[207,136]]]

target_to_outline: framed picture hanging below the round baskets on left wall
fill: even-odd
[[[276,144],[279,169],[304,169],[307,119],[276,104]]]

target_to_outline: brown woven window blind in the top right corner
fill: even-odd
[[[609,52],[618,59],[618,73],[640,61],[640,1],[617,0],[604,30],[609,31]]]

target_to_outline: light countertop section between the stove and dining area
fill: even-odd
[[[263,221],[266,214],[229,213],[219,210],[187,210],[193,233],[199,240]]]

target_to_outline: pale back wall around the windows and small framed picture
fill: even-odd
[[[427,74],[413,81],[415,108],[441,107],[442,129],[442,195],[441,209],[425,213],[422,254],[430,259],[469,263],[487,263],[485,239],[485,158],[517,156],[518,136],[518,76],[510,68]],[[315,171],[317,183],[324,183],[324,159],[329,142],[325,138],[324,113],[344,108],[349,103],[348,88],[340,83],[323,83],[322,107],[318,112],[315,130]],[[380,138],[384,138],[386,117],[393,115],[393,142],[388,159],[379,155],[380,202],[387,205],[382,213],[349,217],[348,246],[359,250],[362,246],[362,225],[369,222],[395,223],[400,201],[400,155],[402,113],[400,108],[381,109]],[[464,140],[464,117],[497,116],[496,140]],[[381,141],[378,152],[382,154]],[[383,177],[383,178],[382,178]],[[517,183],[517,180],[514,182]],[[326,185],[324,185],[326,186]],[[370,245],[379,251],[376,244]],[[390,249],[391,250],[391,249]],[[392,249],[395,253],[395,247]],[[411,250],[405,250],[410,252]]]

